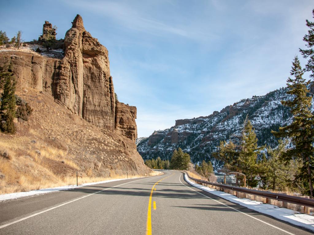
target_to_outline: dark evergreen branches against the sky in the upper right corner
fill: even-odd
[[[312,13],[314,17],[314,9],[312,10]],[[312,71],[310,77],[314,78],[314,22],[306,20],[306,26],[309,27],[310,29],[308,30],[308,34],[306,34],[303,37],[303,41],[306,42],[306,47],[308,49],[306,50],[300,49],[300,52],[304,58],[308,58],[305,70]]]

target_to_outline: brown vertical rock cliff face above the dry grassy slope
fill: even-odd
[[[46,21],[43,34],[48,29],[52,25]],[[108,50],[85,30],[80,15],[66,32],[62,60],[24,52],[1,53],[0,62],[7,61],[12,64],[19,86],[48,92],[89,123],[120,133],[135,143],[136,107],[120,102],[115,107]]]

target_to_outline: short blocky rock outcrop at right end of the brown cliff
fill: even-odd
[[[115,132],[133,140],[137,138],[136,107],[116,101]]]

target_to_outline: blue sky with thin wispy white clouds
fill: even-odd
[[[305,48],[312,0],[2,0],[0,30],[64,38],[74,17],[109,51],[119,101],[137,106],[138,136],[285,86]],[[302,65],[305,60],[301,59]]]

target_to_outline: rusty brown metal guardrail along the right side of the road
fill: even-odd
[[[306,206],[306,207],[314,208],[314,200],[313,199],[309,199],[309,198],[305,198],[305,197],[298,197],[298,196],[290,196],[290,195],[286,195],[283,193],[272,193],[272,192],[268,192],[268,191],[260,191],[260,190],[247,189],[247,188],[242,188],[242,187],[237,187],[237,186],[218,184],[218,183],[214,183],[214,182],[209,182],[209,181],[199,180],[199,179],[193,178],[186,171],[181,171],[181,172],[184,172],[185,174],[187,174],[187,176],[191,180],[194,180],[195,182],[200,183],[200,184],[213,185],[213,186],[223,188],[223,189],[229,189],[232,191],[237,191],[237,192],[251,194],[251,195],[260,196],[260,197],[265,197],[265,198],[269,198],[269,199],[273,199],[273,200],[277,200],[277,201],[283,201],[283,202],[288,202],[288,203],[292,203],[292,204],[296,204],[296,205],[300,205],[300,206]]]

